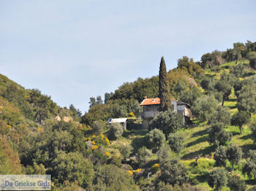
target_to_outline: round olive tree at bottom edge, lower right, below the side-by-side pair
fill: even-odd
[[[222,168],[215,168],[210,173],[208,184],[210,187],[215,187],[214,190],[222,190],[222,187],[227,185],[227,171]]]

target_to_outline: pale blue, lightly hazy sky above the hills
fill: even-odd
[[[255,0],[0,0],[0,74],[82,112],[89,98],[152,77],[162,56],[256,41]]]

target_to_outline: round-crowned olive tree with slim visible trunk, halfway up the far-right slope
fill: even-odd
[[[231,120],[231,125],[237,125],[240,129],[240,134],[243,133],[242,127],[244,124],[249,122],[248,112],[239,111],[233,115]]]

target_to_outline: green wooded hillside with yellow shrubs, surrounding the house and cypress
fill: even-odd
[[[158,76],[91,97],[82,115],[0,75],[0,174],[51,174],[52,190],[256,190],[255,69],[249,41],[178,59],[168,89],[192,123],[167,110],[146,130],[140,103],[159,97]],[[108,124],[118,117],[127,130]]]

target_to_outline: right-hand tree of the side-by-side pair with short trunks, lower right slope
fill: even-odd
[[[239,163],[242,158],[243,152],[242,149],[235,144],[230,144],[227,147],[227,160],[230,161],[232,165],[232,170],[234,170],[234,164]]]

